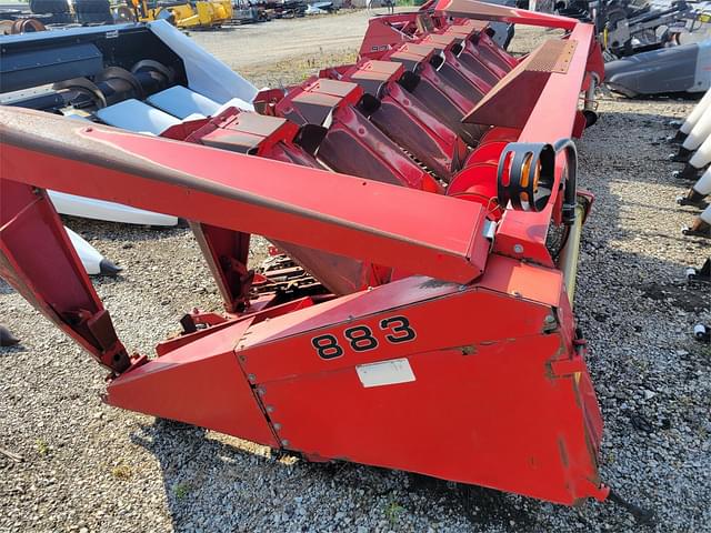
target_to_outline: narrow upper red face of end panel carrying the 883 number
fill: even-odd
[[[513,274],[514,271],[504,269],[503,275],[505,273]],[[405,279],[359,293],[338,306],[336,302],[331,302],[332,308],[324,309],[318,320],[304,320],[296,328],[284,328],[289,319],[283,321],[287,322],[284,324],[280,318],[254,325],[237,351],[246,373],[253,374],[261,384],[289,375],[332,371],[449,346],[535,335],[543,330],[545,316],[551,314],[549,306],[525,301],[524,296],[494,293],[478,286],[454,285],[449,295],[427,299],[423,294],[433,280],[418,280],[420,286]],[[547,286],[560,293],[560,286],[557,285],[561,282],[560,278],[539,278],[538,281],[552,282],[553,286]],[[510,290],[502,280],[492,280],[492,284]],[[381,290],[391,288],[407,291],[413,299],[412,303],[388,301],[378,294]],[[316,305],[310,310],[291,313],[290,319],[307,315],[319,308],[320,305]],[[388,335],[392,335],[393,330],[382,321],[395,316],[405,318],[409,322],[413,332],[411,341],[388,342]],[[346,333],[354,326],[368,328],[377,346],[363,351],[354,349]],[[341,348],[340,356],[328,360],[319,356],[313,343],[321,335],[333,335]]]

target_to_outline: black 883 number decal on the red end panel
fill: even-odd
[[[373,331],[368,325],[353,325],[343,330],[341,338],[333,333],[326,333],[311,339],[311,345],[321,359],[336,359],[346,353],[346,349],[353,352],[375,350],[382,342],[400,344],[411,342],[417,338],[407,316],[397,315],[378,322],[379,329]]]

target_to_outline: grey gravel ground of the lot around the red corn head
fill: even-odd
[[[351,14],[312,24],[358,27],[360,37],[363,21]],[[240,41],[226,44],[222,33],[194,37],[211,50],[219,42],[212,51],[222,58],[247,61],[272,42],[270,30],[299,34],[308,24],[248,27],[264,33],[252,52]],[[289,32],[274,34],[287,46]],[[521,36],[517,48],[534,37]],[[337,41],[322,43],[324,53],[353,54],[359,39]],[[269,59],[286,64],[291,53]],[[253,60],[242,71],[259,70]],[[258,82],[279,76],[261,72]],[[674,204],[685,184],[669,177],[679,165],[667,162],[660,143],[668,120],[691,105],[605,98],[599,123],[579,142],[581,184],[597,201],[575,309],[607,424],[602,477],[653,509],[658,525],[649,531],[659,532],[711,531],[711,353],[690,333],[711,319],[710,302],[683,279],[709,247],[681,235],[694,213]],[[186,230],[67,223],[126,269],[94,285],[129,350],[152,353],[187,310],[219,308]],[[263,255],[263,241],[254,254]],[[104,372],[2,282],[0,322],[22,339],[0,351],[0,447],[22,457],[0,454],[2,532],[640,530],[610,503],[568,509],[402,472],[272,457],[246,441],[114,410],[99,401]]]

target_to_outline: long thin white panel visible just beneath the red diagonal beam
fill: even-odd
[[[153,213],[120,203],[92,200],[63,192],[48,191],[58,213],[84,219],[138,225],[178,225],[178,217]]]

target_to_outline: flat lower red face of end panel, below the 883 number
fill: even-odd
[[[415,381],[364,388],[351,365],[260,384],[286,445],[560,503],[595,494],[572,378],[551,379],[558,335],[409,358]]]

